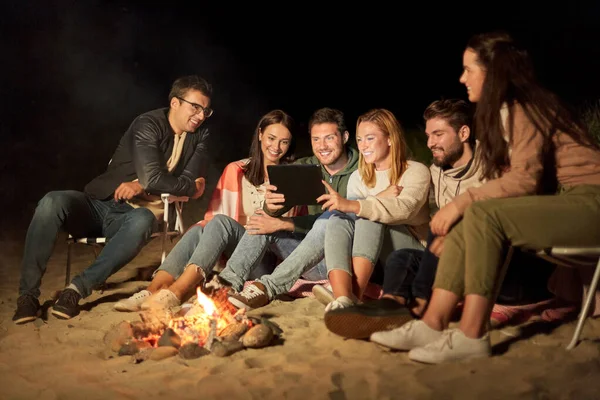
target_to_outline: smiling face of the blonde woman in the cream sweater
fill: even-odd
[[[391,141],[374,123],[365,121],[358,125],[356,144],[365,162],[374,164],[376,170],[391,167]]]

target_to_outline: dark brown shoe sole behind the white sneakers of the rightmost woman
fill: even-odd
[[[368,339],[372,333],[399,328],[413,317],[408,310],[392,315],[365,315],[344,309],[325,313],[325,326],[329,331],[348,339]]]

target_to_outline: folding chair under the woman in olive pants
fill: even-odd
[[[538,257],[563,267],[596,266],[587,297],[585,297],[583,307],[579,313],[579,320],[577,321],[575,333],[567,346],[567,350],[571,350],[577,346],[577,343],[579,342],[583,324],[590,312],[590,307],[596,295],[596,289],[598,288],[598,279],[600,278],[600,247],[552,247],[537,252],[537,255]]]

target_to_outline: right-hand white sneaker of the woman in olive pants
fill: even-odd
[[[465,336],[460,329],[447,329],[442,336],[423,347],[408,352],[408,358],[428,364],[489,357],[492,354],[490,335],[478,339]]]

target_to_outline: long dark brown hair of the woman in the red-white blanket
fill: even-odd
[[[244,167],[244,176],[254,186],[260,186],[265,182],[265,165],[263,160],[263,153],[260,147],[260,140],[258,140],[261,132],[264,132],[267,127],[274,124],[281,124],[285,126],[292,134],[292,140],[288,151],[281,157],[281,164],[290,163],[294,161],[294,120],[293,118],[282,110],[273,110],[263,115],[256,129],[254,130],[254,136],[252,137],[252,144],[250,145],[250,162]]]

